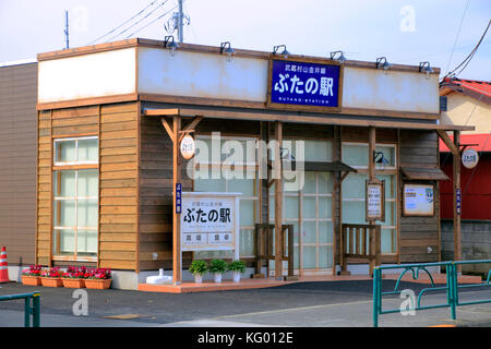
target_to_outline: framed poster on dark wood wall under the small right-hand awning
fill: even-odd
[[[403,215],[434,216],[434,185],[404,184]]]

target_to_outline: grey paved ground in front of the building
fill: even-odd
[[[57,327],[371,327],[370,280],[299,282],[266,289],[201,293],[155,293],[128,290],[86,290],[88,315],[73,314],[73,289],[1,284],[0,294],[41,293],[41,326]],[[394,287],[384,280],[384,290]],[[419,293],[420,284],[402,282],[400,289]],[[491,287],[462,292],[462,300],[491,299]],[[445,300],[442,292],[423,296],[423,304]],[[384,299],[383,308],[399,309],[403,299]],[[0,302],[0,327],[23,326],[24,301]],[[491,326],[491,304],[380,316],[381,327],[424,327],[441,324]],[[125,320],[108,318],[122,316]]]

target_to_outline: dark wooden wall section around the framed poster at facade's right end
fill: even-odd
[[[402,167],[430,167],[439,166],[439,139],[432,131],[400,131],[399,157]],[[400,181],[399,194],[400,205],[402,185],[408,182],[404,178]],[[440,201],[438,185],[434,181],[427,181],[435,184],[434,205],[435,214],[433,217],[400,217],[400,262],[438,262],[440,251],[439,240],[439,209]],[[430,248],[431,250],[429,250]]]

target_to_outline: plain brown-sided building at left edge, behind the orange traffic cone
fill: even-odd
[[[0,245],[9,275],[35,262],[37,62],[0,64]]]

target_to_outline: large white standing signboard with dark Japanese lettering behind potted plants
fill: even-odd
[[[239,260],[241,193],[182,193],[181,250],[233,250]]]

